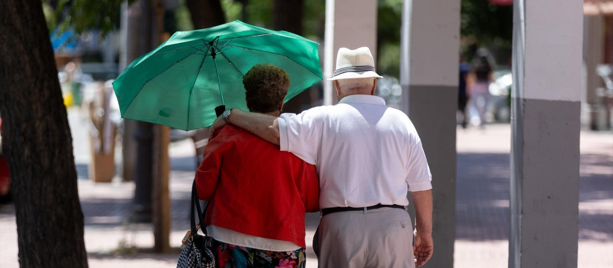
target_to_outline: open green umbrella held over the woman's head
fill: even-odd
[[[242,21],[176,32],[113,82],[121,117],[182,130],[215,121],[215,107],[243,108],[243,75],[270,63],[289,74],[286,100],[322,80],[318,43]]]

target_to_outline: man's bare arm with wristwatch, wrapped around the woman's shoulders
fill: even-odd
[[[227,119],[232,125],[236,125],[264,140],[279,145],[279,123],[276,117],[234,108]],[[224,125],[227,125],[226,121],[224,121],[221,116],[217,117],[210,127],[210,137],[213,138],[215,136],[215,131]]]

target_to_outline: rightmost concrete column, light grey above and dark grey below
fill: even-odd
[[[513,13],[509,267],[577,267],[583,1]]]

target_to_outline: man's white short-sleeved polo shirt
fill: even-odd
[[[411,192],[432,188],[417,131],[402,111],[373,95],[349,95],[278,119],[281,151],[317,166],[319,206],[409,204]]]

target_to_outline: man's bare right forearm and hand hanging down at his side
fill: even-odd
[[[415,245],[413,255],[417,266],[424,265],[434,252],[432,240],[432,190],[412,192],[415,205]]]

